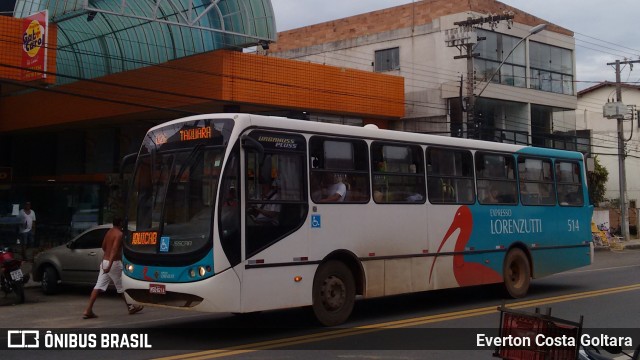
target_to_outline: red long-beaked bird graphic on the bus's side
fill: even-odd
[[[473,229],[473,216],[468,206],[460,206],[453,217],[453,221],[449,226],[449,230],[444,234],[438,251],[431,263],[431,270],[429,271],[429,283],[431,283],[431,275],[433,274],[433,267],[438,259],[438,254],[442,250],[444,244],[449,240],[449,237],[456,231],[460,230],[456,244],[453,251],[453,274],[456,277],[456,281],[459,286],[469,286],[478,284],[488,284],[502,281],[502,275],[490,267],[484,266],[479,263],[465,262],[463,252],[467,247],[467,243],[471,238],[471,230]]]

